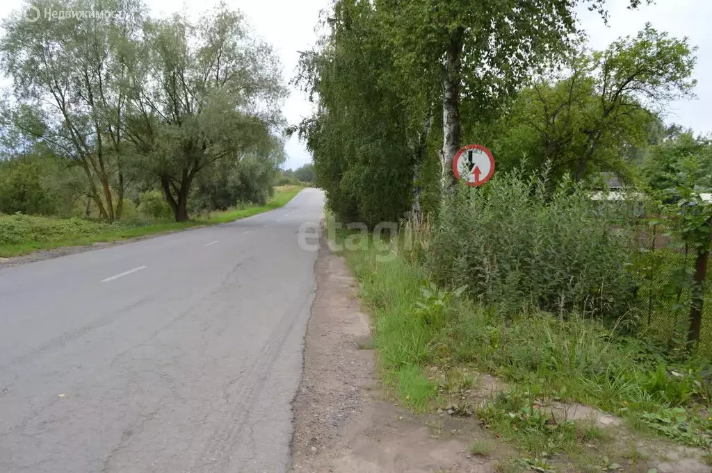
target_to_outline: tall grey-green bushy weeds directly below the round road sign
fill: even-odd
[[[436,282],[500,312],[531,307],[618,317],[636,304],[627,266],[635,245],[621,201],[594,201],[565,180],[501,174],[482,188],[456,188],[434,228],[429,267]]]

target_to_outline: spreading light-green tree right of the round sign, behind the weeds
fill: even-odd
[[[693,51],[686,40],[646,26],[606,51],[577,56],[566,78],[523,90],[481,136],[492,143],[499,169],[523,161],[540,169],[550,161],[557,179],[625,174],[629,149],[646,147],[658,113],[691,94]]]

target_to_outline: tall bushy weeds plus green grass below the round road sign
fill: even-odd
[[[546,184],[501,174],[452,193],[451,216],[417,238],[407,227],[385,253],[374,245],[346,253],[372,310],[384,379],[404,405],[427,410],[436,403],[432,366],[503,378],[512,390],[478,415],[540,462],[599,435],[553,417],[544,407],[553,400],[712,447],[706,349],[664,344],[642,318],[629,264],[636,239],[624,226],[641,206],[595,201],[575,184],[545,193]]]

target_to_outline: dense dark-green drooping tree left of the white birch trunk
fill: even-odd
[[[413,152],[399,101],[394,55],[375,7],[338,1],[302,80],[318,111],[300,132],[313,152],[316,184],[348,221],[397,220],[412,201]]]

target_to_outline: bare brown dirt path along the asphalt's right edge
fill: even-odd
[[[343,258],[325,247],[322,242],[304,376],[294,401],[292,470],[494,472],[487,459],[468,455],[457,420],[426,425],[384,400],[355,280]]]

